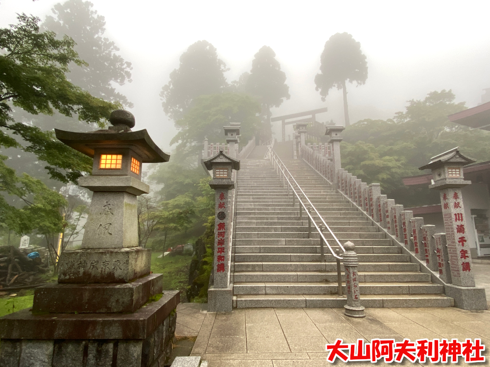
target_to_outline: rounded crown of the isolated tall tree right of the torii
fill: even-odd
[[[347,32],[336,33],[325,42],[320,56],[320,72],[315,76],[317,91],[324,101],[333,87],[342,89],[345,81],[366,83],[368,63],[361,51],[361,44]]]

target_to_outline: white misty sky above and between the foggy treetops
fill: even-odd
[[[16,23],[22,12],[44,20],[58,2],[0,0],[0,27]],[[317,119],[343,124],[342,91],[332,90],[322,102],[314,83],[325,41],[337,32],[352,34],[368,58],[366,85],[347,85],[351,122],[390,118],[407,100],[442,89],[474,107],[490,88],[490,1],[92,2],[105,17],[104,36],[132,63],[133,82],[118,90],[134,103],[136,129],[148,129],[166,151],[176,131],[159,93],[197,40],[218,49],[230,68],[228,82],[250,70],[260,47],[272,47],[291,94],[273,116],[328,107]]]

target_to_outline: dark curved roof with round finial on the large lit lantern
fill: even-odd
[[[97,130],[78,133],[54,129],[56,138],[80,153],[94,158],[97,148],[130,148],[138,153],[143,163],[168,162],[170,155],[164,153],[150,138],[146,129],[131,131],[134,127],[134,116],[124,110],[111,113],[108,130]]]

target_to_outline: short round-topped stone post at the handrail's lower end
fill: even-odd
[[[361,305],[361,292],[359,291],[359,275],[357,273],[357,253],[356,246],[347,241],[343,244],[345,252],[343,253],[343,267],[345,270],[345,293],[347,295],[347,304],[345,315],[349,317],[365,317],[364,307]]]

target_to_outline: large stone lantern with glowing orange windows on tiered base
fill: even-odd
[[[110,122],[89,133],[55,129],[94,159],[92,174],[79,179],[94,194],[81,249],[61,255],[58,283],[36,288],[31,310],[0,319],[1,366],[81,366],[88,353],[94,366],[149,367],[170,354],[179,292],[163,292],[162,275],[150,272],[136,201],[149,192],[142,163],[170,156],[146,130],[131,131],[129,112],[114,111]]]

